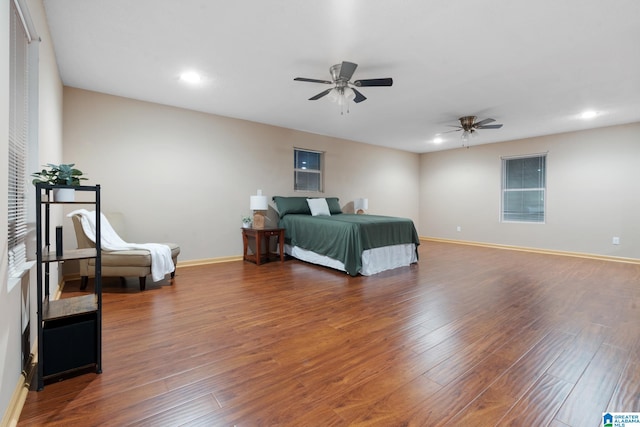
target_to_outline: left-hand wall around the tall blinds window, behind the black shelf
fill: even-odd
[[[0,2],[0,188],[7,188],[7,141],[9,122],[9,99],[5,94],[9,93],[9,4],[8,1]],[[35,164],[44,161],[57,163],[62,159],[62,82],[58,74],[58,66],[55,62],[55,54],[49,36],[49,28],[41,0],[27,0],[28,11],[35,26],[37,35],[42,40],[35,48],[39,52],[37,69],[32,69],[37,77],[39,119],[32,130],[37,137],[35,144],[30,147]],[[38,147],[39,146],[39,147]],[[32,190],[32,189],[31,189]],[[33,191],[29,194],[32,202]],[[0,191],[0,203],[6,206],[7,193]],[[29,205],[29,215],[35,216],[35,209]],[[54,212],[54,218],[59,218],[62,212]],[[7,229],[7,211],[0,209],[0,223]],[[30,222],[30,236],[33,234],[34,223]],[[36,314],[35,314],[35,279],[33,271],[26,274],[21,284],[10,286],[7,277],[7,236],[0,233],[0,272],[2,274],[2,286],[0,288],[0,414],[6,414],[11,396],[18,385],[21,366],[21,287],[29,287],[31,294],[31,343],[36,341]],[[33,245],[28,246],[30,258],[35,258]],[[51,270],[52,293],[57,291],[58,272],[56,266]]]

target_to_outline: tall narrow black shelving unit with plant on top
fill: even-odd
[[[91,201],[56,202],[56,189],[94,193]],[[95,205],[95,249],[64,250],[52,247],[50,208],[54,204]],[[37,390],[45,383],[86,372],[102,372],[102,262],[100,248],[100,186],[36,184],[36,244],[38,294]],[[64,245],[61,245],[64,246]],[[51,300],[51,263],[95,258],[93,293]]]

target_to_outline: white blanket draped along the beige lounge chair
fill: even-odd
[[[78,209],[67,216],[78,215],[82,229],[87,237],[96,242],[96,211]],[[160,243],[127,243],[118,236],[118,233],[111,227],[109,221],[100,213],[101,239],[100,244],[103,251],[122,251],[127,249],[146,249],[151,253],[151,278],[154,282],[162,280],[165,275],[173,272],[175,266],[171,259],[171,248]]]

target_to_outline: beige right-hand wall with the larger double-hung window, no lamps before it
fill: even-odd
[[[501,223],[501,156],[543,152],[546,224]],[[640,258],[639,160],[640,123],[424,154],[421,235]]]

